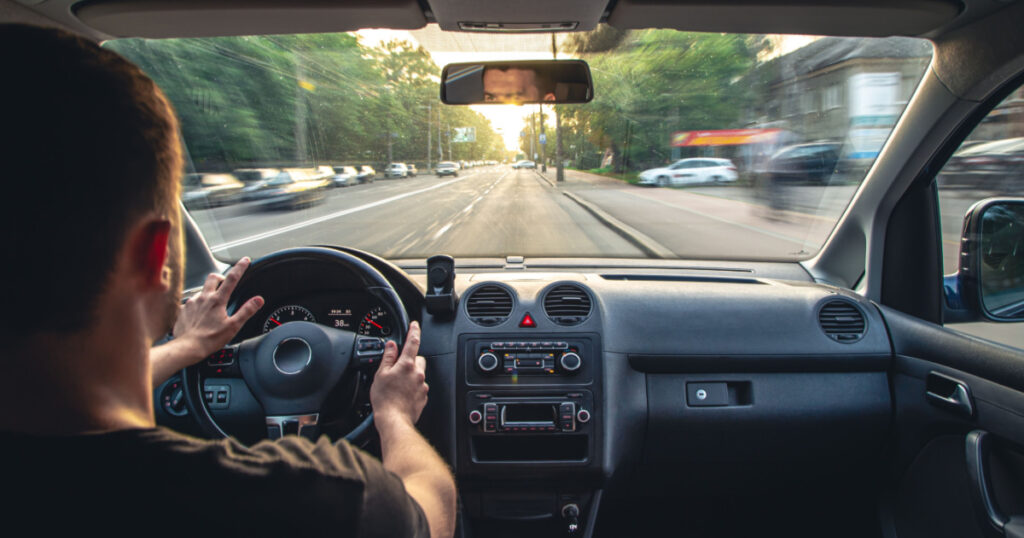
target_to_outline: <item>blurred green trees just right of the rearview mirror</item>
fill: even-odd
[[[575,147],[566,155],[593,167],[610,148],[616,170],[636,170],[669,160],[673,132],[740,126],[761,88],[737,82],[767,46],[760,36],[604,27],[570,39],[590,63],[595,97],[559,107],[563,148]]]

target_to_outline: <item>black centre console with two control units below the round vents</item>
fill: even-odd
[[[457,451],[473,535],[588,536],[602,484],[591,333],[459,340]]]

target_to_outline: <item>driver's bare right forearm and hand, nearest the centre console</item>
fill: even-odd
[[[384,359],[374,377],[370,401],[381,438],[384,468],[401,479],[406,491],[423,508],[430,536],[455,534],[456,488],[447,465],[416,429],[416,421],[427,403],[426,361],[418,357],[420,327],[409,328],[401,355],[388,342]]]

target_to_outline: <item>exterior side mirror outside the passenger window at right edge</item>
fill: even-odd
[[[959,267],[944,288],[949,321],[1024,321],[1024,199],[982,200],[968,210]]]

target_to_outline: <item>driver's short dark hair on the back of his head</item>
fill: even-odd
[[[131,226],[179,218],[177,120],[137,67],[81,37],[0,25],[0,337],[83,330]]]

